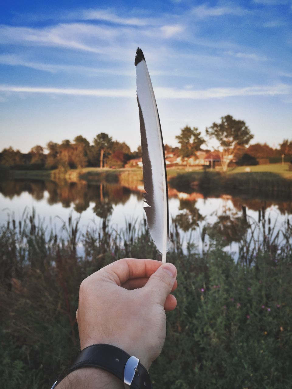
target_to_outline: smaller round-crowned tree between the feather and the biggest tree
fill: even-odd
[[[195,152],[200,150],[202,144],[205,143],[205,140],[201,137],[201,132],[196,128],[190,128],[185,126],[181,129],[181,135],[177,135],[176,139],[181,145],[179,149],[179,154],[183,159],[187,160],[191,156],[195,156]]]

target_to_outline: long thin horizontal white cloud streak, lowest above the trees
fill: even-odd
[[[27,86],[0,85],[0,92],[43,93],[47,95],[72,95],[91,97],[135,97],[134,89],[77,89],[77,88],[41,88]],[[175,88],[155,88],[155,96],[163,99],[207,100],[236,96],[275,96],[288,95],[291,86],[250,86],[246,88],[209,88],[205,90],[189,90]]]

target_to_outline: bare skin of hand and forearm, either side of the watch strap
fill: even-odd
[[[165,341],[166,315],[176,307],[176,268],[152,259],[120,259],[87,277],[76,312],[81,350],[107,343],[140,359],[148,370]],[[106,371],[83,368],[60,382],[66,388],[124,388]]]

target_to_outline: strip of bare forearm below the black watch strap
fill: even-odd
[[[56,389],[123,389],[121,380],[107,371],[96,368],[82,368],[65,377]]]

